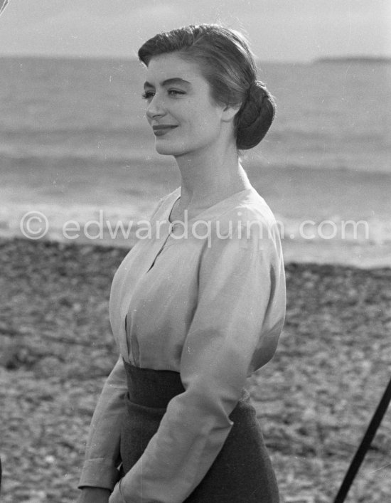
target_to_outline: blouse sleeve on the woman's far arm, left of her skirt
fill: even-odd
[[[120,357],[105,382],[92,416],[79,487],[113,489],[119,479],[119,433],[126,392],[126,375]]]

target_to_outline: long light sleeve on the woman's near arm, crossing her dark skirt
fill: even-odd
[[[198,302],[181,354],[184,393],[173,398],[144,454],[110,503],[181,503],[232,428],[247,376],[272,358],[284,322],[277,238],[215,239],[198,275]]]

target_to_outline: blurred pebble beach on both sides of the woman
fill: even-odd
[[[75,502],[90,418],[117,359],[108,299],[127,250],[0,241],[4,503]],[[249,380],[282,503],[331,502],[390,378],[391,269],[286,263],[277,353]],[[350,503],[391,494],[391,416]]]

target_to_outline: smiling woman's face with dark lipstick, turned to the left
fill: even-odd
[[[223,107],[210,96],[198,65],[175,53],[152,58],[144,83],[146,118],[159,154],[181,156],[213,148],[223,127]]]

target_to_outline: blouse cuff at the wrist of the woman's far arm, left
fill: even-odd
[[[102,487],[112,491],[118,480],[119,471],[113,465],[112,460],[106,457],[98,457],[85,461],[77,487]]]

